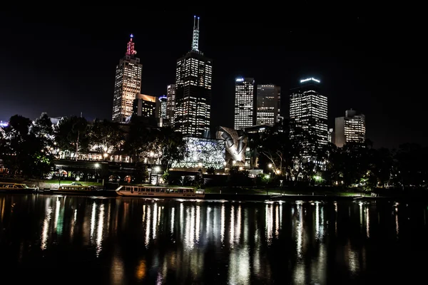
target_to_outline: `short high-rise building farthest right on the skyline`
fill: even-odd
[[[345,117],[335,119],[335,145],[342,147],[347,142],[365,142],[365,115],[355,110],[346,110]]]

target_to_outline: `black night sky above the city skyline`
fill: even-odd
[[[289,8],[2,11],[0,120],[41,112],[111,119],[115,68],[130,33],[143,63],[141,93],[165,94],[175,83],[177,58],[190,50],[196,14],[200,51],[213,58],[213,125],[233,126],[238,76],[281,86],[285,116],[288,90],[315,77],[328,97],[329,128],[353,108],[366,115],[374,147],[428,145],[423,17]]]

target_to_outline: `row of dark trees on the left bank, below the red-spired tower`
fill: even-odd
[[[0,130],[0,158],[4,167],[25,177],[44,177],[52,171],[58,157],[79,157],[97,152],[109,160],[111,155],[130,155],[132,162],[144,159],[168,170],[173,160],[183,159],[182,135],[171,128],[150,128],[143,122],[125,127],[108,120],[71,116],[53,126],[46,113],[34,121],[14,115]],[[77,154],[77,155],[76,155]],[[141,168],[140,167],[140,168]]]

